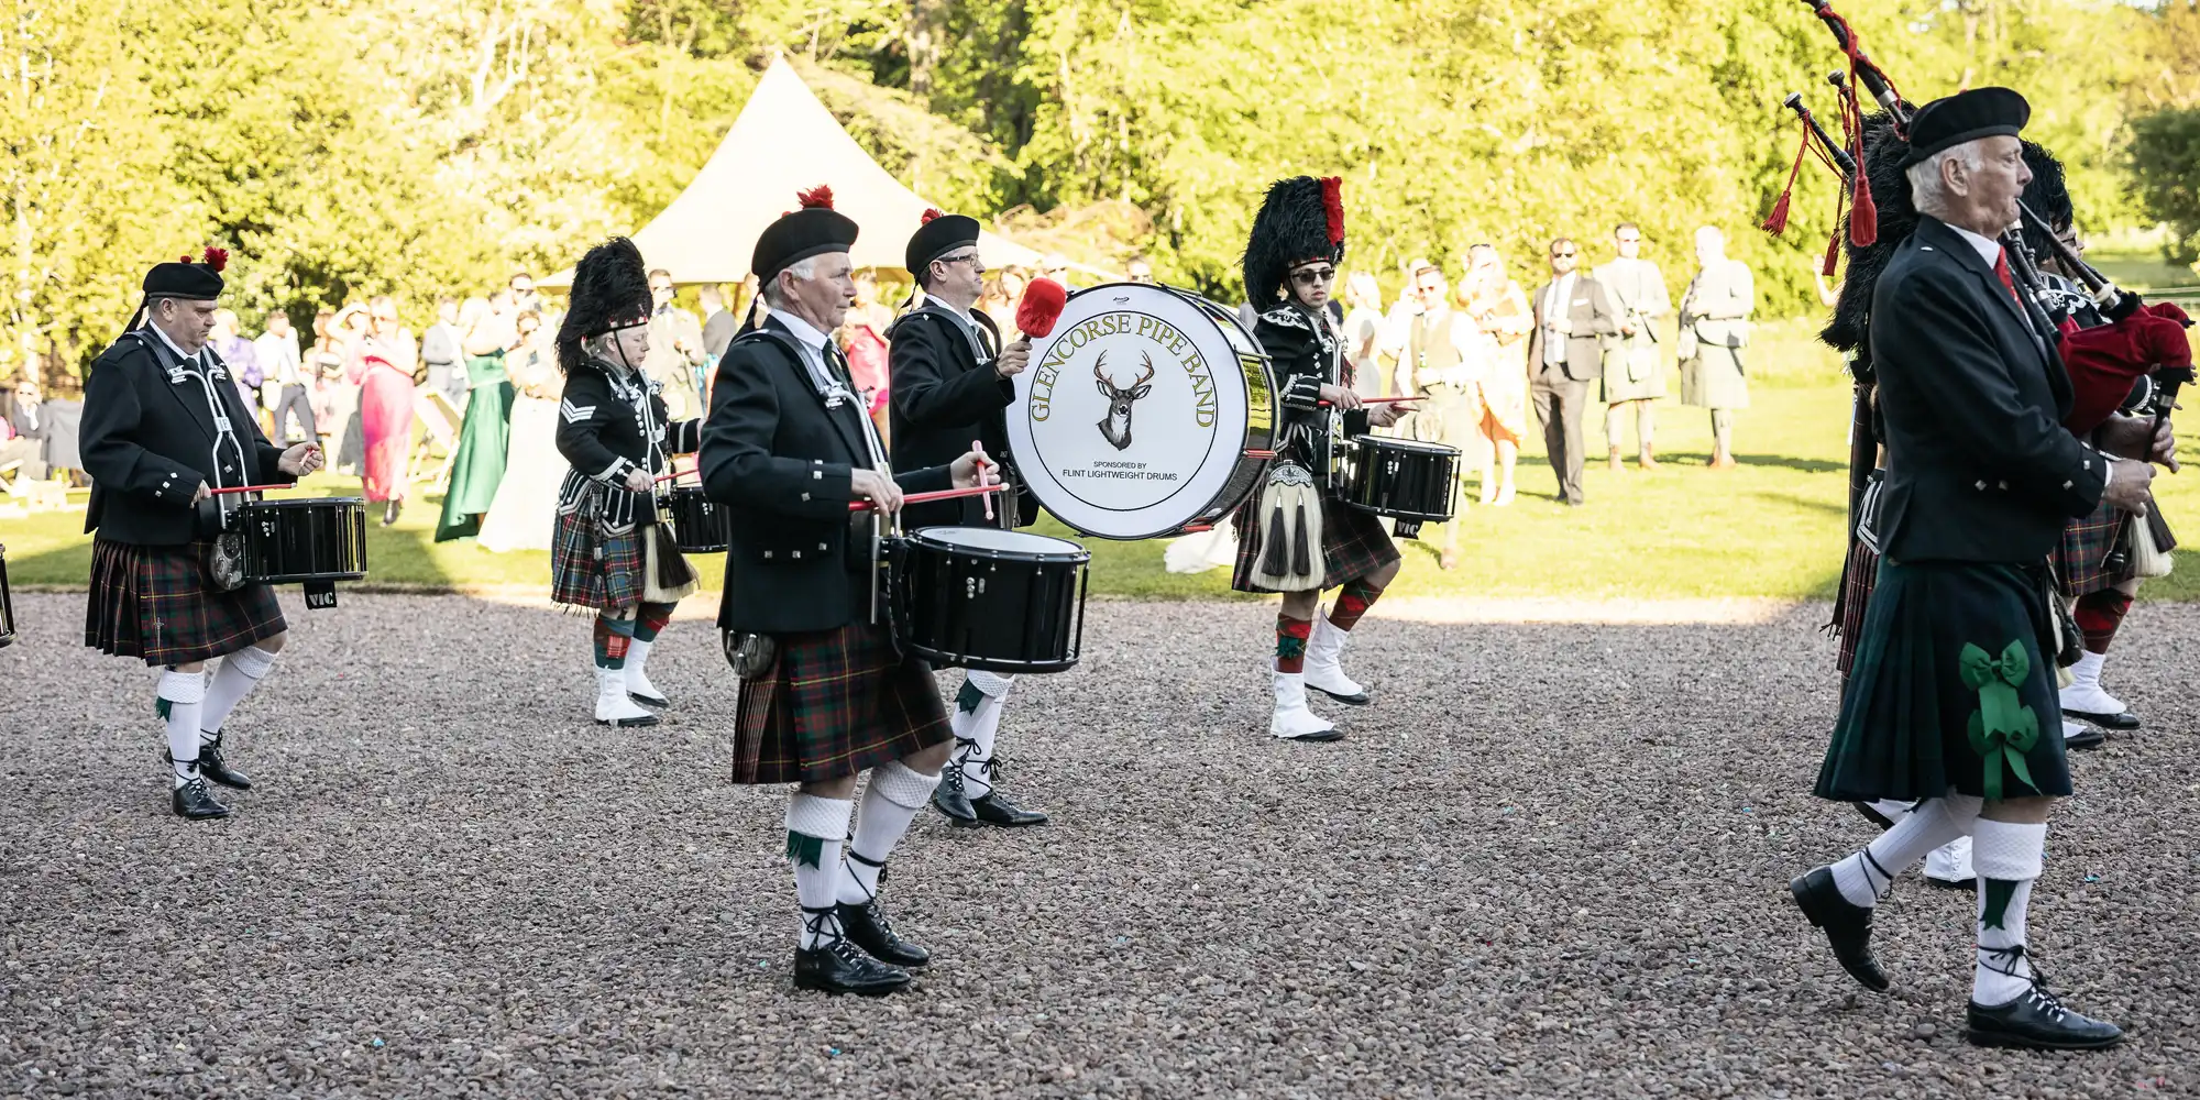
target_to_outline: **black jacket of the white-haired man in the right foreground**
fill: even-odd
[[[1872,290],[1870,341],[1890,559],[2039,561],[2101,504],[2108,458],[2061,427],[2070,376],[2055,330],[1954,229],[1921,218],[1894,251]]]

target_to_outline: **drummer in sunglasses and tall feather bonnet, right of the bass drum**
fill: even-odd
[[[1368,704],[1366,689],[1344,675],[1344,640],[1399,568],[1382,521],[1327,488],[1333,429],[1342,438],[1364,436],[1410,411],[1404,403],[1362,407],[1353,367],[1340,354],[1344,341],[1329,319],[1329,290],[1344,262],[1340,183],[1278,180],[1245,242],[1245,295],[1258,310],[1254,337],[1276,372],[1278,442],[1267,486],[1236,513],[1230,587],[1283,592],[1267,733],[1291,741],[1344,737],[1307,706],[1309,686],[1346,706]],[[1340,587],[1329,614],[1322,614],[1324,587]]]

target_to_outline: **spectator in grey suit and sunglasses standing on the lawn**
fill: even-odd
[[[1529,400],[1542,425],[1542,447],[1558,473],[1558,499],[1582,504],[1582,414],[1588,383],[1604,376],[1604,350],[1619,341],[1613,295],[1573,271],[1573,240],[1551,242],[1551,282],[1536,288],[1536,328],[1529,332]]]

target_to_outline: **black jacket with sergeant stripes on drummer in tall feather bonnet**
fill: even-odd
[[[627,473],[664,473],[671,455],[691,453],[702,442],[702,420],[667,422],[660,389],[640,372],[618,374],[618,367],[601,361],[565,376],[565,394],[557,407],[557,453],[565,455],[572,471],[559,486],[559,513],[579,508],[587,484],[596,482],[609,532],[623,535],[636,524],[656,521],[656,508],[642,504],[649,497],[627,491]]]

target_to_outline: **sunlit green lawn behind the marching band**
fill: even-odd
[[[1531,444],[1520,455],[1520,499],[1509,508],[1467,506],[1459,517],[1465,550],[1456,570],[1437,568],[1439,528],[1404,541],[1399,596],[1485,598],[1830,598],[1848,521],[1848,383],[1830,352],[1802,321],[1762,326],[1753,356],[1751,407],[1736,418],[1740,469],[1712,473],[1709,416],[1665,400],[1659,453],[1665,466],[1643,473],[1604,469],[1602,411],[1591,411],[1586,508],[1551,497],[1558,480]],[[1679,394],[1679,381],[1672,392]],[[1628,427],[1632,440],[1632,425]],[[1632,451],[1630,451],[1632,453]],[[2158,499],[2171,526],[2200,543],[2200,477],[2160,477]],[[308,491],[356,495],[359,482],[317,475]],[[436,543],[438,497],[414,502],[394,528],[370,526],[372,585],[425,590],[548,590],[550,554],[491,554],[471,541]],[[84,517],[42,513],[0,519],[15,585],[84,587],[90,539]],[[1038,528],[1069,535],[1052,519]],[[1093,550],[1096,594],[1148,598],[1252,598],[1230,592],[1228,570],[1170,574],[1162,541]],[[693,559],[704,587],[717,587],[722,561]],[[2154,581],[2147,598],[2200,598],[2200,554],[2178,552],[2178,572]]]

